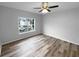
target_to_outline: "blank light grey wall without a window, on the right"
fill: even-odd
[[[43,33],[79,45],[79,8],[44,15]]]

